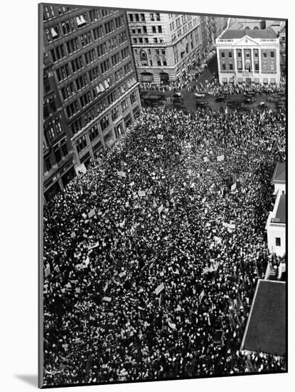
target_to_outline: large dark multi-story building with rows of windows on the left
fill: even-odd
[[[115,143],[141,103],[124,11],[43,5],[43,54],[48,200]]]

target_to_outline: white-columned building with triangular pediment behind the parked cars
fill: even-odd
[[[273,29],[225,29],[216,39],[221,84],[280,81],[279,38]]]

